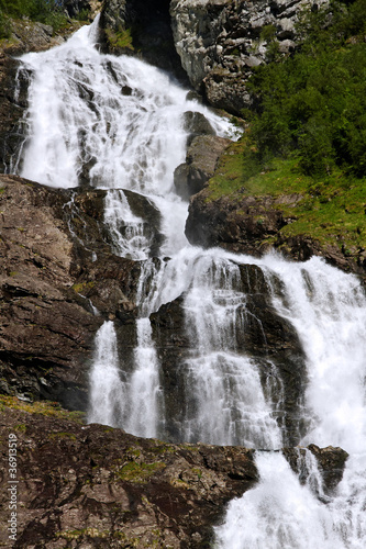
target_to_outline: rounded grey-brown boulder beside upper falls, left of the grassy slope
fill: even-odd
[[[177,193],[185,200],[201,191],[213,176],[217,163],[231,141],[215,135],[200,135],[193,138],[187,150],[186,163],[174,172]]]

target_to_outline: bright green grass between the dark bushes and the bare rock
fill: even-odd
[[[240,208],[243,197],[270,195],[276,199],[274,208],[291,220],[281,228],[284,236],[306,234],[322,245],[336,245],[346,256],[366,249],[366,178],[341,168],[329,176],[306,176],[296,158],[276,158],[246,179],[246,146],[242,139],[226,149],[209,182],[207,201],[230,197]]]

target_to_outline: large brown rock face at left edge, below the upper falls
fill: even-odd
[[[104,195],[0,177],[2,393],[85,410],[97,329],[135,318],[141,264],[112,253]]]

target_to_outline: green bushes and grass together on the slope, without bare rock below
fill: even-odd
[[[207,201],[230,194],[240,213],[243,197],[271,197],[287,220],[282,242],[308,235],[359,258],[366,257],[366,0],[332,2],[330,10],[303,13],[301,47],[255,69],[248,83],[255,108],[243,113],[249,128],[221,157]],[[260,40],[276,42],[274,29],[265,27]]]

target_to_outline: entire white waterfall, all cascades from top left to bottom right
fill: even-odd
[[[106,322],[96,338],[89,421],[141,436],[164,435],[165,395],[149,316],[181,296],[189,348],[179,368],[189,399],[178,437],[281,447],[278,417],[285,389],[278,380],[267,386],[259,365],[237,345],[247,326],[239,266],[255,264],[269,287],[273,273],[281,281],[281,294],[273,290],[273,305],[295,326],[306,354],[302,411],[309,427],[299,442],[339,445],[351,457],[336,493],[326,500],[319,497],[319,481],[300,485],[279,452],[257,451],[260,482],[230,504],[215,529],[217,546],[365,547],[366,302],[357,280],[319,259],[296,265],[276,256],[258,260],[189,246],[184,235],[187,203],[173,184],[174,169],[185,158],[182,114],[204,113],[220,135],[230,132],[230,124],[188,101],[186,91],[156,68],[133,57],[100,55],[95,30],[84,27],[63,46],[23,57],[31,72],[29,136],[16,161],[22,176],[45,184],[89,182],[107,189],[104,223],[113,250],[142,261],[134,368],[125,371],[113,323]],[[132,213],[122,189],[144,194],[159,210],[165,237],[160,258],[151,258],[143,221]],[[270,401],[275,392],[276,403]],[[317,474],[313,469],[310,477]]]

